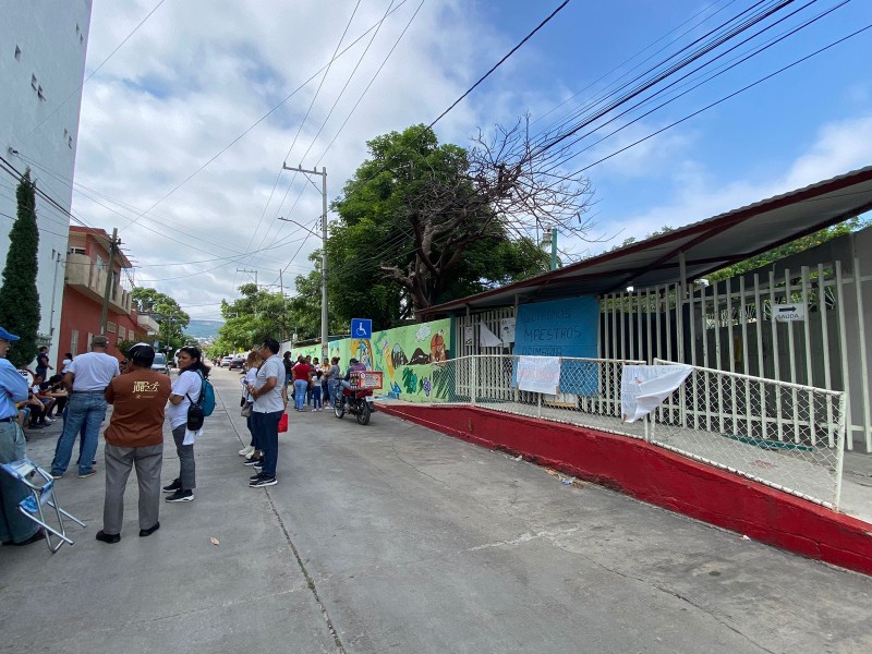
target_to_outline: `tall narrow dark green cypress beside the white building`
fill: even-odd
[[[25,171],[15,191],[19,210],[9,232],[9,253],[0,287],[0,327],[21,340],[15,341],[7,354],[12,365],[23,367],[38,352],[39,293],[36,290],[36,261],[39,231],[36,228],[36,184]]]

